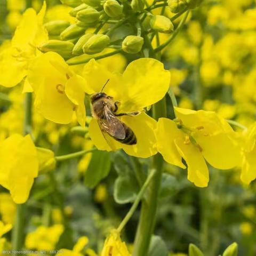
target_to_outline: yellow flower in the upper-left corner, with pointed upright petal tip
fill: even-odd
[[[23,13],[11,44],[0,53],[0,85],[13,87],[20,83],[27,75],[30,60],[40,54],[37,45],[48,39],[43,27],[45,9],[44,3],[38,14],[32,8]],[[31,91],[27,83],[25,91]]]

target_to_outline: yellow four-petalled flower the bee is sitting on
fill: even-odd
[[[100,92],[109,79],[104,92],[113,97],[114,101],[119,101],[118,113],[141,111],[161,100],[170,82],[170,73],[164,70],[163,64],[147,58],[131,62],[122,76],[110,73],[93,59],[85,65],[83,76],[94,92]],[[109,146],[97,120],[93,118],[89,125],[89,133],[98,149],[110,151],[123,148],[127,154],[137,157],[149,157],[157,153],[154,134],[156,121],[153,118],[141,113],[137,116],[122,116],[120,119],[133,130],[137,144],[124,145],[106,134]]]

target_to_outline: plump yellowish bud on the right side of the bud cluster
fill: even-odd
[[[150,27],[160,33],[171,33],[174,29],[171,20],[163,15],[155,15],[150,21]]]

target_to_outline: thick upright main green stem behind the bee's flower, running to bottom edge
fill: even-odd
[[[153,116],[157,120],[166,117],[165,98],[153,106]],[[156,221],[158,194],[162,179],[163,158],[158,153],[153,157],[153,178],[142,201],[140,221],[134,242],[133,256],[146,256]],[[149,174],[150,175],[150,174]]]

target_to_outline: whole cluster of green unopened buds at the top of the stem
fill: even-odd
[[[202,1],[167,0],[163,5],[168,5],[171,12],[179,13],[197,7]],[[155,12],[145,5],[145,0],[61,2],[73,7],[69,14],[76,21],[73,24],[63,20],[45,23],[50,40],[39,45],[38,49],[57,52],[65,59],[82,54],[98,54],[106,47],[136,54],[143,49],[148,31],[152,33],[152,38],[156,33],[171,34],[174,31],[173,23],[165,12],[154,15]],[[152,10],[155,4],[150,6]]]

